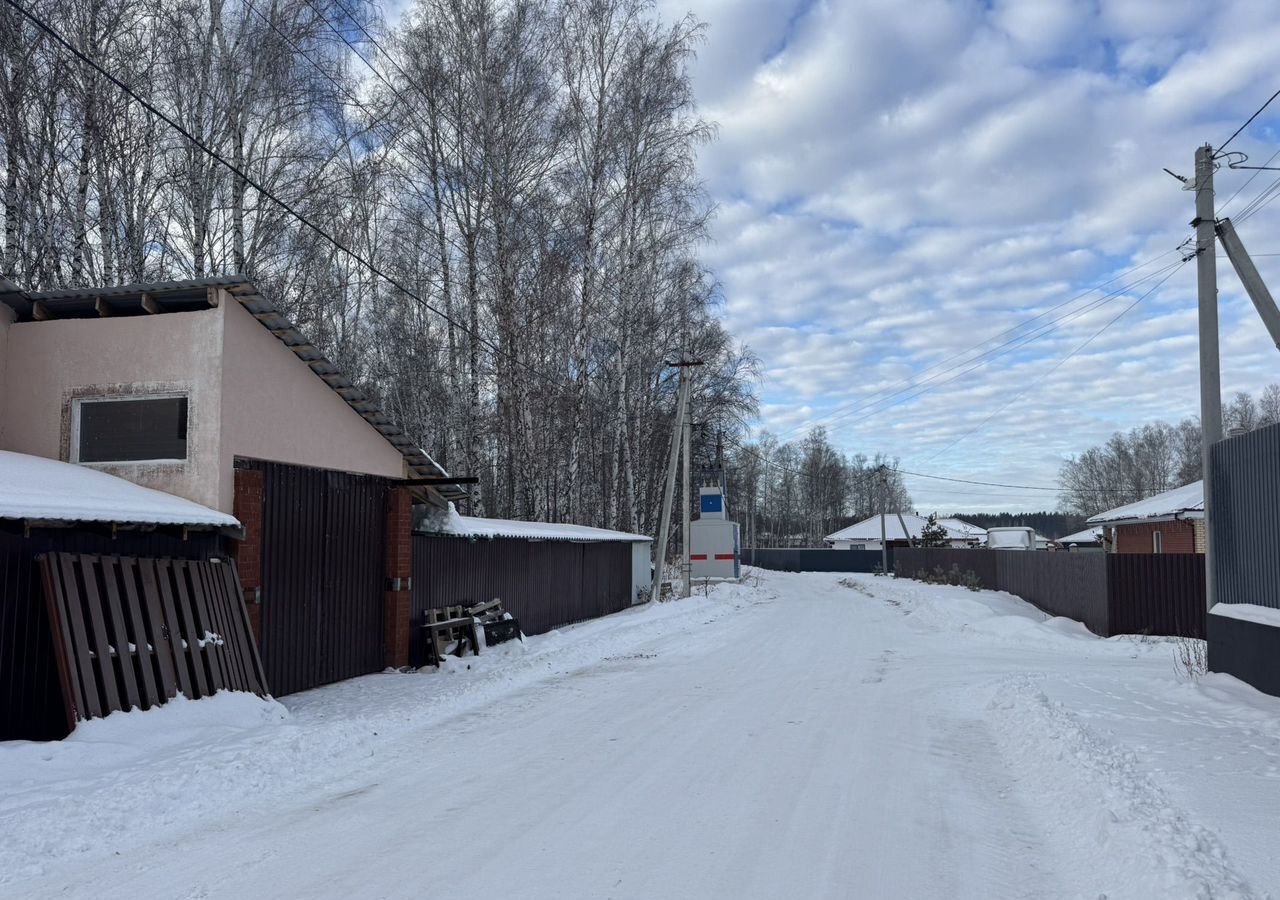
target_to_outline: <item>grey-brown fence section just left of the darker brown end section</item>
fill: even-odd
[[[1111,636],[1107,559],[1101,553],[991,550],[1000,590],[1021,597],[1051,616],[1065,616]]]

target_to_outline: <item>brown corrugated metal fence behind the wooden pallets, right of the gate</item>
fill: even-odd
[[[526,635],[631,606],[631,544],[413,535],[413,636],[421,664],[426,609],[498,598]]]

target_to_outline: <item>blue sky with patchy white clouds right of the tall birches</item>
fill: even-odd
[[[1068,454],[1111,431],[1198,411],[1194,264],[1166,270],[1193,201],[1161,169],[1190,174],[1199,143],[1220,143],[1280,88],[1274,1],[658,9],[708,26],[694,68],[718,124],[700,157],[718,204],[705,261],[727,325],[763,361],[759,428],[795,438],[823,424],[842,449],[910,470],[1055,485]],[[1231,149],[1262,163],[1280,150],[1277,125],[1265,115]],[[1220,202],[1251,174],[1224,168]],[[1280,204],[1240,233],[1280,253]],[[1257,261],[1280,289],[1280,256]],[[1220,280],[1224,393],[1280,382],[1280,353],[1226,260]],[[948,369],[1018,335],[1016,353]],[[1055,503],[908,483],[922,511]]]

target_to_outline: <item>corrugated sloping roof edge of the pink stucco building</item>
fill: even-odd
[[[22,291],[9,280],[0,280],[0,302],[8,303],[18,314],[19,320],[46,316],[147,315],[207,309],[211,302],[211,288],[227,291],[257,319],[262,328],[306,362],[307,367],[342,397],[347,406],[378,429],[378,433],[401,452],[415,476],[449,475],[404,433],[404,429],[387,416],[365,390],[353,384],[325,358],[302,332],[274,303],[259,293],[253,283],[243,275],[214,275],[182,282],[61,288],[58,291]],[[445,499],[467,497],[467,492],[457,485],[440,485],[433,490],[436,490]]]

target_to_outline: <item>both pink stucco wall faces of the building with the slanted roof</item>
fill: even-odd
[[[0,319],[0,449],[69,460],[72,399],[168,392],[188,396],[187,461],[95,469],[224,512],[237,456],[404,474],[399,451],[227,293],[198,312]]]

